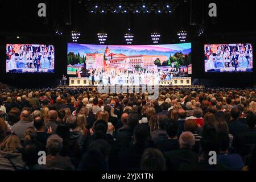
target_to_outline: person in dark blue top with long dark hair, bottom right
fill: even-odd
[[[229,135],[217,134],[220,153],[218,155],[218,164],[223,164],[233,171],[241,171],[244,164],[240,155],[229,154]]]

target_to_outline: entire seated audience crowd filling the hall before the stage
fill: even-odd
[[[256,169],[254,89],[191,86],[148,96],[0,84],[0,170]]]

